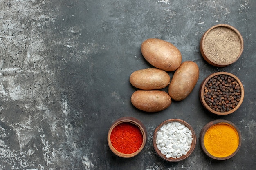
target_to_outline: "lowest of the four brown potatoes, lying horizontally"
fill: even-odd
[[[137,90],[132,94],[131,102],[139,110],[159,112],[171,105],[171,97],[165,91]]]

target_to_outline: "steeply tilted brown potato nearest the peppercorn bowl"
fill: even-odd
[[[195,87],[199,78],[199,68],[195,62],[183,62],[175,71],[168,93],[173,100],[181,101],[185,99]]]

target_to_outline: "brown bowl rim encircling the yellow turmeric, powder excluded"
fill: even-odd
[[[207,149],[205,148],[204,146],[204,136],[205,136],[205,133],[207,132],[207,130],[209,128],[211,128],[212,126],[216,125],[216,124],[228,124],[229,126],[233,127],[236,132],[238,133],[238,137],[239,137],[239,141],[238,141],[238,147],[236,148],[236,151],[233,152],[231,155],[227,156],[227,157],[215,157],[213,155],[211,155]],[[242,142],[242,138],[241,138],[241,132],[240,130],[238,129],[238,127],[232,123],[231,121],[227,121],[227,120],[224,120],[224,119],[216,119],[216,120],[213,120],[213,121],[210,121],[209,123],[207,123],[206,125],[204,125],[204,127],[202,128],[201,132],[200,132],[200,145],[201,145],[201,148],[203,150],[203,152],[210,158],[212,159],[216,159],[216,160],[226,160],[226,159],[229,159],[231,157],[233,157],[234,155],[236,155],[236,153],[238,152],[238,150],[240,149],[240,146],[241,146],[241,142]]]

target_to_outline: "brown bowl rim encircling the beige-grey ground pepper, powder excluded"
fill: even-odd
[[[231,62],[226,62],[226,63],[218,63],[218,62],[214,62],[213,60],[211,60],[211,58],[209,58],[206,53],[204,53],[204,40],[207,36],[207,34],[217,28],[217,27],[226,27],[226,28],[229,28],[231,29],[232,31],[234,31],[238,37],[239,37],[239,40],[240,40],[240,43],[241,43],[241,49],[240,49],[240,52],[238,54],[238,56],[236,57],[235,60],[231,61]],[[228,25],[228,24],[218,24],[218,25],[214,25],[212,26],[211,28],[209,28],[202,36],[201,40],[200,40],[200,52],[202,54],[202,57],[204,58],[204,60],[206,60],[209,64],[213,65],[213,66],[218,66],[218,67],[225,67],[225,66],[228,66],[230,64],[233,64],[234,62],[236,62],[240,56],[242,55],[243,53],[243,49],[244,49],[244,41],[243,41],[243,37],[242,35],[240,34],[240,32],[234,27],[234,26],[231,26],[231,25]]]

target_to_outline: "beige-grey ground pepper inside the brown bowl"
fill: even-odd
[[[216,27],[204,39],[204,53],[216,63],[229,63],[238,57],[242,48],[238,35],[227,27]]]

